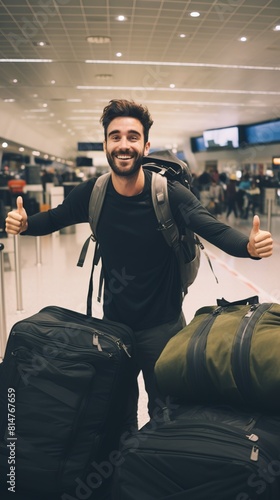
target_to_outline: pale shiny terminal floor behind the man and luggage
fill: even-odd
[[[249,234],[251,220],[229,219],[229,224]],[[267,228],[267,217],[261,216],[261,226]],[[274,255],[262,261],[236,259],[205,243],[211,258],[217,284],[205,255],[201,257],[199,275],[184,301],[184,313],[189,322],[195,311],[203,305],[214,305],[224,297],[233,301],[258,295],[261,302],[280,302],[280,216],[272,217],[271,232],[274,237]],[[76,226],[73,234],[56,233],[42,238],[20,237],[21,289],[17,294],[14,266],[14,238],[0,240],[5,245],[4,297],[6,334],[12,325],[37,312],[46,305],[60,305],[85,313],[86,295],[93,245],[83,268],[76,266],[79,252],[89,235],[87,224]],[[41,247],[41,263],[38,262]],[[95,276],[97,281],[97,274]],[[97,286],[95,286],[95,289]],[[101,317],[101,306],[93,301],[93,315]],[[4,332],[2,332],[4,337]],[[141,399],[139,423],[147,421],[146,395],[142,378],[139,379]]]

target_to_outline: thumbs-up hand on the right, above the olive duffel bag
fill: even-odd
[[[255,215],[250,232],[247,250],[251,257],[270,257],[273,250],[273,239],[269,231],[260,229],[260,218]]]

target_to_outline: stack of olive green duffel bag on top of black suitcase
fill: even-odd
[[[114,500],[279,500],[280,305],[200,309],[155,374],[169,408],[123,443]]]

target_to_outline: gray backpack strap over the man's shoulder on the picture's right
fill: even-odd
[[[173,219],[167,189],[167,178],[152,172],[152,201],[159,229],[170,247],[179,241],[179,231]]]

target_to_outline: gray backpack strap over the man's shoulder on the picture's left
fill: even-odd
[[[88,208],[89,223],[92,230],[94,241],[96,241],[96,228],[101,214],[102,205],[110,176],[111,174],[110,172],[108,172],[98,177],[93,186],[89,200],[89,208]]]

